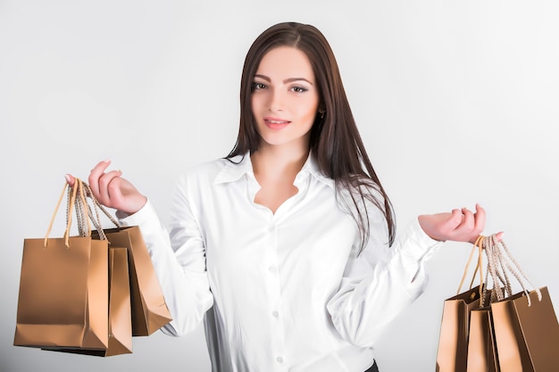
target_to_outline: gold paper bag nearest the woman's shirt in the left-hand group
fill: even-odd
[[[172,318],[140,228],[121,227],[103,205],[96,201],[88,186],[86,189],[87,195],[96,204],[96,209],[103,211],[116,226],[109,229],[97,228],[92,236],[96,239],[106,237],[113,246],[128,249],[132,335],[151,335],[171,322]],[[98,217],[96,219],[99,220]]]

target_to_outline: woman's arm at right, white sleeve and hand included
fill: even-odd
[[[374,212],[373,208],[369,211]],[[476,213],[464,209],[422,215],[382,260],[375,260],[376,252],[387,250],[381,242],[388,241],[377,211],[371,219],[367,247],[359,256],[352,252],[338,292],[327,305],[334,327],[348,342],[371,347],[385,327],[424,291],[429,279],[425,263],[440,241],[473,242],[484,224],[485,212],[479,206]]]

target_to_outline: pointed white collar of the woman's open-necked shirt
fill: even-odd
[[[253,163],[250,161],[250,153],[238,155],[231,159],[225,159],[224,161],[225,166],[213,180],[214,185],[235,182],[243,176],[250,176],[254,178]],[[314,159],[312,153],[309,154],[303,168],[297,174],[296,182],[305,178],[307,175],[311,175],[323,184],[334,188],[334,180],[322,174],[321,169],[319,169],[318,163]]]

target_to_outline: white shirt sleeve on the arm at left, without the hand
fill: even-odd
[[[162,328],[167,335],[194,330],[213,306],[205,271],[205,249],[185,193],[177,187],[173,197],[171,233],[163,227],[148,201],[140,211],[121,219],[122,226],[138,226],[154,263],[172,321]]]

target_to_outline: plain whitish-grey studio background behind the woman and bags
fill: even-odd
[[[280,21],[329,39],[400,229],[481,203],[486,233],[505,231],[559,309],[559,4],[365,3],[0,0],[1,371],[210,370],[202,328],[106,359],[14,347],[22,243],[45,235],[63,175],[105,159],[166,223],[179,169],[229,153],[246,51]],[[469,252],[446,243],[430,261],[427,292],[378,345],[382,372],[435,369]]]

